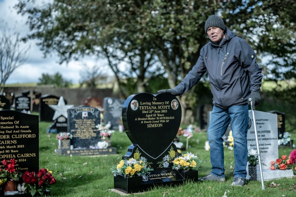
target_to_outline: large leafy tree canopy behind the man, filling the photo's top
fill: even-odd
[[[137,92],[146,90],[153,75],[165,76],[170,88],[180,82],[208,42],[204,23],[211,14],[221,15],[258,57],[271,57],[270,62],[261,62],[265,79],[295,78],[292,0],[54,0],[43,7],[31,5],[32,0],[19,0],[16,9],[28,14],[28,38],[40,40],[44,54],[57,51],[60,62],[103,56],[119,84],[136,79]],[[188,123],[192,101],[202,94],[196,88],[180,97],[183,123]]]

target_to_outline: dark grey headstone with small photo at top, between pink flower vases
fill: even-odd
[[[68,109],[68,132],[73,135],[74,148],[95,147],[101,141],[96,125],[101,123],[100,110],[88,106]]]

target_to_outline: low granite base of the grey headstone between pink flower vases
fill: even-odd
[[[110,147],[105,149],[93,149],[93,148],[74,148],[74,149],[55,149],[55,153],[65,156],[95,156],[95,155],[110,155],[117,154],[116,148]]]

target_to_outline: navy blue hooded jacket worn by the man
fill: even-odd
[[[252,47],[227,28],[219,45],[208,42],[192,70],[174,90],[184,94],[208,71],[216,107],[248,103],[249,94],[261,86],[262,68]]]

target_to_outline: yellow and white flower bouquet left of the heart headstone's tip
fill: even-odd
[[[123,176],[143,176],[150,174],[150,171],[153,171],[152,168],[147,167],[147,161],[145,158],[141,159],[123,159],[119,162],[119,164],[115,167],[111,168],[113,173],[117,173]]]

